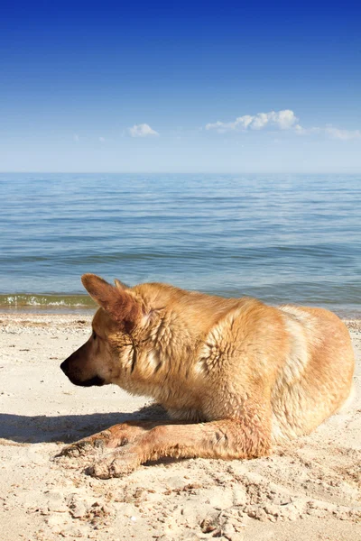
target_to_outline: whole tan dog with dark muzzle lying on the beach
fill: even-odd
[[[93,274],[82,282],[101,308],[88,342],[61,369],[76,385],[116,383],[153,397],[176,419],[111,426],[63,451],[101,447],[96,477],[165,456],[270,454],[273,444],[310,433],[350,393],[350,337],[327,310],[268,307],[159,283],[127,289]]]

